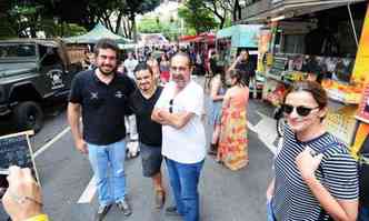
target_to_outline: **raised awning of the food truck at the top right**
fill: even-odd
[[[366,0],[285,0],[277,3],[272,9],[240,20],[238,23],[260,22],[268,19],[282,20],[363,1]]]

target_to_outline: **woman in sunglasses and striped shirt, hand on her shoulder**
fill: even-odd
[[[347,147],[326,131],[327,94],[312,81],[293,84],[282,106],[283,144],[267,190],[273,220],[356,221],[358,175]]]

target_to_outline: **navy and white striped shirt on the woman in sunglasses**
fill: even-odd
[[[313,140],[301,142],[287,125],[283,145],[275,162],[276,183],[272,207],[278,221],[319,220],[321,207],[302,180],[295,162],[296,157],[306,147],[323,153],[321,169],[316,171],[316,177],[321,180],[330,194],[338,200],[358,199],[357,164],[346,145],[328,132]],[[322,220],[328,220],[328,215]]]

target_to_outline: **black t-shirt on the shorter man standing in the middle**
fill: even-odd
[[[151,120],[153,107],[161,94],[162,88],[158,87],[151,98],[146,99],[139,90],[130,97],[130,108],[136,114],[139,141],[154,147],[161,147],[161,124]]]

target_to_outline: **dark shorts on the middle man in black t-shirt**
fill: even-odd
[[[161,147],[147,145],[140,142],[140,155],[143,177],[151,178],[160,172],[162,162]]]

